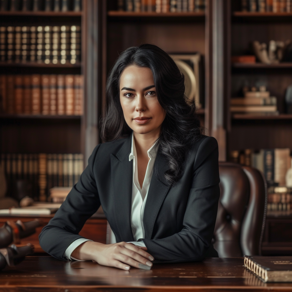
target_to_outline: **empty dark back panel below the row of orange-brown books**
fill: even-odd
[[[80,119],[5,119],[3,153],[80,153]]]

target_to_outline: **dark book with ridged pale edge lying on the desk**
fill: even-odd
[[[244,266],[264,282],[292,282],[292,256],[244,256]]]

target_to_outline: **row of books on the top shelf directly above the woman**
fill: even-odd
[[[204,12],[205,0],[118,0],[119,11]]]

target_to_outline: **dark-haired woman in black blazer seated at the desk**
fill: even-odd
[[[184,76],[154,45],[124,51],[107,81],[101,134],[79,182],[42,230],[44,251],[129,270],[218,257],[218,145],[201,134]],[[126,137],[126,138],[121,138]],[[121,138],[121,139],[119,139]],[[102,206],[116,244],[78,235]]]

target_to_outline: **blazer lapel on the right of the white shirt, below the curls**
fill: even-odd
[[[158,176],[153,170],[143,216],[145,238],[147,239],[151,239],[152,237],[156,217],[170,188],[164,178],[164,172],[168,169],[168,164],[159,151],[155,160],[154,169],[155,167],[157,167]]]

